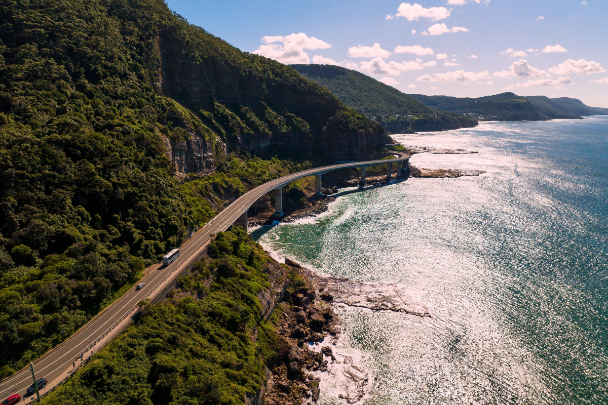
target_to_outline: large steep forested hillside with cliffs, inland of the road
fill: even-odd
[[[328,90],[161,0],[4,1],[0,377],[224,203],[309,165],[294,159],[383,145],[382,127]],[[274,155],[287,160],[263,160]]]

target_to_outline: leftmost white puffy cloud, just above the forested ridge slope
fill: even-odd
[[[261,41],[265,45],[260,46],[253,53],[285,64],[309,63],[308,53],[304,52],[304,49],[331,48],[331,44],[303,32],[285,36],[264,36]]]

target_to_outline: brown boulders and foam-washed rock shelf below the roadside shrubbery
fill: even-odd
[[[366,283],[323,276],[285,258],[292,284],[274,308],[272,325],[285,342],[283,362],[267,370],[267,384],[250,404],[358,404],[374,392],[373,374],[362,353],[341,335],[339,310],[394,311],[434,318],[405,285]],[[299,281],[298,281],[299,280]]]

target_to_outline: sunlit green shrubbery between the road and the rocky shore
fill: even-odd
[[[240,227],[219,233],[209,251],[208,265],[198,262],[172,298],[145,305],[137,324],[44,403],[243,404],[255,394],[264,361],[281,350],[270,324],[250,338],[261,321],[256,294],[269,287],[264,271],[278,264]]]

